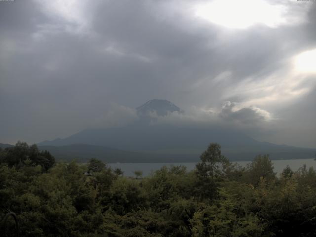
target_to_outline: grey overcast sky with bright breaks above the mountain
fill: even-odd
[[[154,98],[186,111],[167,121],[316,148],[316,1],[0,1],[0,142],[134,119]]]

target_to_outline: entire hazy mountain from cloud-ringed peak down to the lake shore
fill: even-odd
[[[216,142],[221,144],[223,154],[231,160],[249,160],[258,154],[270,154],[274,159],[314,158],[314,149],[258,142],[225,127],[210,127],[201,124],[184,126],[153,122],[151,113],[155,113],[156,116],[166,116],[170,112],[181,113],[181,109],[166,100],[150,100],[137,108],[140,120],[134,124],[124,127],[86,129],[68,138],[45,141],[38,145],[86,144],[111,147],[121,151],[137,151],[142,154],[146,152],[151,154],[150,157],[153,160],[173,159],[175,155],[182,156],[183,160],[184,157],[198,160],[199,154],[206,149],[208,144]],[[56,150],[56,148],[54,149]],[[95,154],[99,154],[98,149],[95,150]],[[91,155],[93,154],[91,153]],[[133,157],[130,162],[135,162],[132,160],[137,159],[133,155],[129,154]]]

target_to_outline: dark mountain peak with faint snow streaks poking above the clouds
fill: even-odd
[[[153,99],[136,108],[138,114],[146,115],[149,112],[156,112],[158,116],[166,116],[168,112],[180,112],[180,108],[170,101]]]

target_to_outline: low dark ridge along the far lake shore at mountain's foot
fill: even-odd
[[[198,162],[199,155],[203,149],[181,154],[184,151],[176,153],[164,152],[131,152],[111,149],[107,147],[91,146],[86,144],[73,144],[69,146],[39,146],[40,150],[49,151],[56,160],[69,161],[77,159],[81,162],[86,162],[90,158],[98,158],[107,163],[167,163],[167,162]],[[252,160],[258,154],[266,154],[266,148],[262,150],[231,150],[222,149],[224,156],[231,161]],[[272,159],[296,159],[296,158],[311,158],[315,151],[312,149],[298,149],[289,147],[286,150],[270,150],[270,158]]]

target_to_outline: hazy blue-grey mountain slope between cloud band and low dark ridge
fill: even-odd
[[[248,146],[258,143],[243,134],[218,128],[130,125],[86,129],[68,138],[39,145],[65,146],[81,143],[122,150],[153,151],[180,148],[203,149],[210,142],[218,142],[223,147]]]

